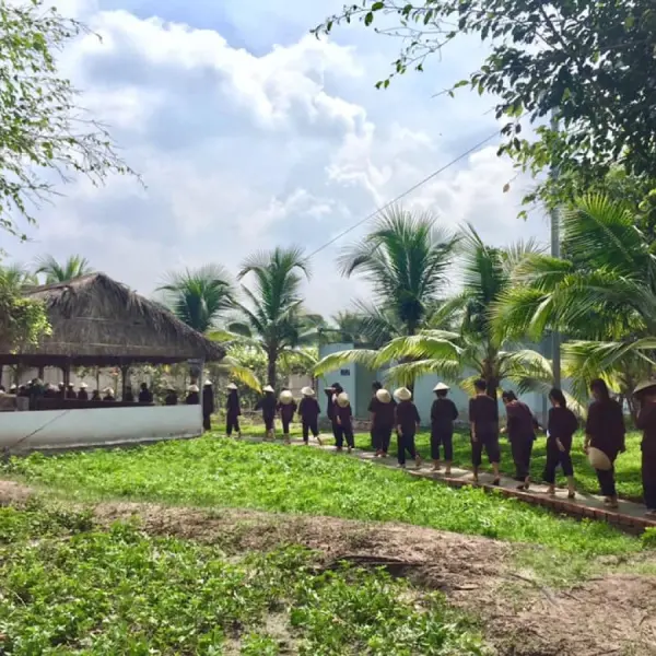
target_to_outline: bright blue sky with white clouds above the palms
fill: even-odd
[[[127,178],[66,186],[39,210],[32,242],[10,245],[19,261],[81,254],[150,294],[167,270],[215,262],[234,271],[278,244],[314,250],[497,127],[490,98],[434,97],[480,62],[479,44],[456,44],[426,73],[380,92],[374,84],[398,42],[360,26],[330,40],[308,35],[339,1],[56,4],[103,37],[72,44],[61,67],[147,188]],[[495,150],[492,142],[405,202],[454,230],[471,222],[495,244],[546,238],[540,212],[516,219],[528,181],[514,179]],[[315,258],[312,309],[329,314],[366,294],[363,282],[335,273],[343,246]]]

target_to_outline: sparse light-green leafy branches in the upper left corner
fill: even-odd
[[[34,223],[58,183],[134,175],[57,70],[58,52],[84,32],[45,0],[0,0],[0,227],[12,234],[25,236],[21,219]]]

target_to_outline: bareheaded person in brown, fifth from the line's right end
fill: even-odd
[[[501,462],[501,450],[499,448],[499,406],[496,399],[488,396],[488,384],[485,380],[479,378],[473,384],[473,387],[476,396],[469,400],[473,480],[478,483],[484,450],[494,471],[493,484],[499,485],[501,483],[501,477],[499,476],[499,464]]]

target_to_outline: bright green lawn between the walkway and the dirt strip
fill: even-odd
[[[543,544],[583,557],[631,553],[640,540],[560,518],[480,489],[454,490],[318,449],[203,437],[129,450],[14,459],[10,471],[67,497],[119,497],[361,520],[403,522]]]

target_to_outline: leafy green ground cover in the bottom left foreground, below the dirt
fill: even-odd
[[[0,653],[8,656],[482,654],[472,624],[383,572],[320,572],[290,548],[215,547],[0,508]]]

